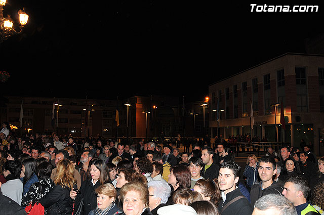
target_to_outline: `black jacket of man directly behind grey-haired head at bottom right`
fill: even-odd
[[[251,205],[254,205],[255,202],[261,198],[262,196],[268,195],[268,194],[280,194],[282,191],[284,191],[284,188],[278,183],[278,182],[273,182],[269,187],[265,189],[261,189],[262,183],[255,183],[251,187]]]

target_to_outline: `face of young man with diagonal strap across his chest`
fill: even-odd
[[[236,183],[238,182],[238,177],[235,178],[233,170],[229,168],[220,168],[218,175],[218,185],[219,189],[225,194],[235,190]]]

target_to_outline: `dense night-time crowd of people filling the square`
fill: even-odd
[[[222,142],[189,153],[173,143],[1,136],[4,215],[323,214],[324,158],[313,160],[307,146],[250,155],[241,177]]]

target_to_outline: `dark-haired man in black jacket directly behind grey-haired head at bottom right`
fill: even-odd
[[[261,157],[259,160],[258,173],[261,181],[256,183],[251,188],[251,204],[262,196],[268,194],[281,195],[284,190],[281,185],[273,181],[273,176],[277,173],[275,160],[269,156]]]

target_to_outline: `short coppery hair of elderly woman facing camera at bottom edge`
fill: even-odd
[[[125,184],[120,189],[121,202],[124,202],[124,197],[129,191],[137,192],[139,194],[137,196],[137,198],[139,198],[143,202],[144,208],[148,208],[149,193],[148,193],[147,186],[145,186],[141,182],[129,182],[129,183]]]

